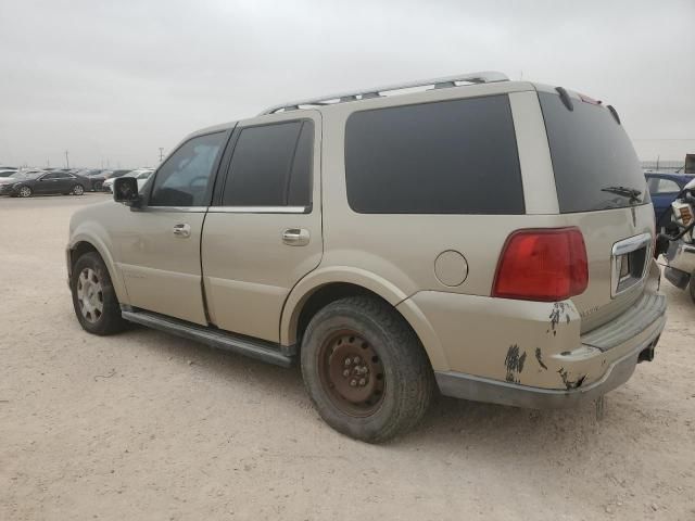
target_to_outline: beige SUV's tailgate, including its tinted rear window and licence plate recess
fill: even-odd
[[[652,262],[654,209],[630,139],[611,109],[539,91],[559,212],[582,230],[589,288],[572,297],[590,331],[633,305]]]

